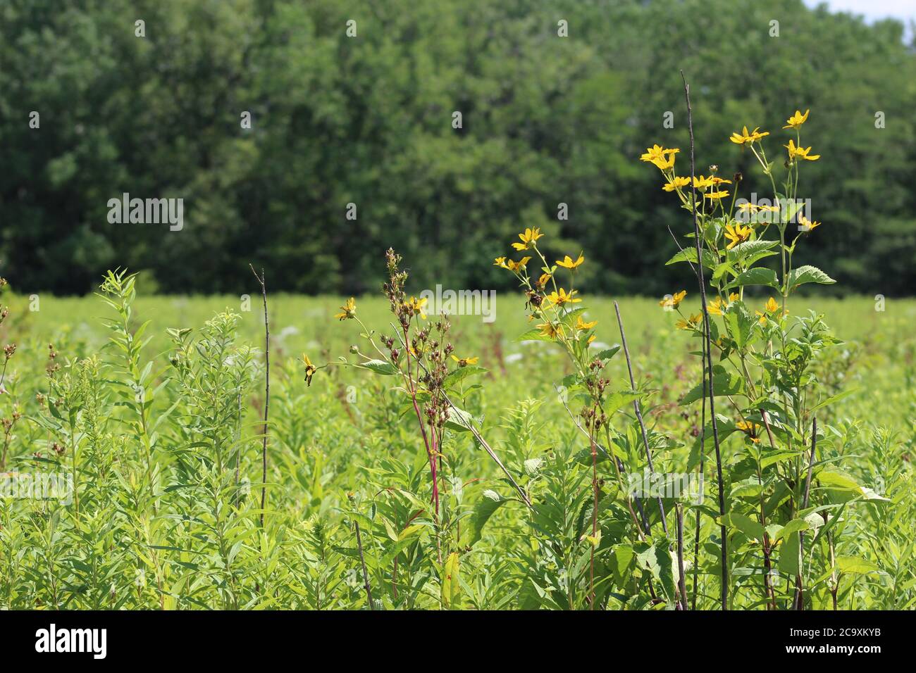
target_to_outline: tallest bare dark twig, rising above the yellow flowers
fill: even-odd
[[[684,98],[687,101],[687,127],[690,131],[690,177],[691,177],[691,211],[693,213],[693,242],[696,245],[696,269],[697,280],[700,283],[700,301],[703,309],[703,341],[705,342],[705,353],[703,363],[703,374],[709,381],[709,416],[713,426],[713,445],[715,447],[715,470],[716,481],[719,487],[719,516],[720,525],[719,533],[722,539],[722,609],[728,609],[728,549],[727,533],[725,531],[725,485],[722,479],[722,455],[719,451],[719,428],[715,419],[715,392],[713,387],[713,358],[712,346],[709,336],[709,312],[706,310],[706,279],[703,273],[703,236],[700,233],[700,221],[696,213],[696,164],[693,157],[693,113],[690,105],[690,85],[681,71],[681,79],[684,82]],[[702,385],[701,385],[702,389]],[[701,447],[703,448],[703,447]]]

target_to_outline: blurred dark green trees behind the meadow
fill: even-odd
[[[4,0],[0,271],[20,291],[128,266],[240,292],[251,261],[273,290],[349,294],[376,289],[391,245],[420,287],[503,289],[493,257],[540,226],[585,251],[590,291],[670,292],[666,225],[689,217],[638,156],[682,147],[689,170],[681,69],[697,170],[741,171],[743,196],[769,181],[729,134],[759,125],[783,156],[810,107],[805,263],[837,291],[911,294],[913,45],[801,0]],[[108,223],[122,192],[183,198],[184,228]]]

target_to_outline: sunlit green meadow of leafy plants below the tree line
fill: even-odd
[[[357,323],[333,318],[342,298],[268,299],[271,397],[261,510],[260,296],[253,291],[247,307],[237,297],[138,291],[129,330],[110,332],[123,337],[149,320],[143,334],[149,342],[133,352],[134,364],[105,345],[101,319],[116,313],[102,299],[42,296],[38,310],[29,310],[28,298],[5,297],[10,316],[2,337],[16,342],[16,353],[0,410],[5,418],[14,409],[22,414],[5,433],[5,470],[78,476],[74,503],[0,501],[0,607],[365,609],[363,562],[376,609],[587,607],[588,438],[554,387],[572,372],[560,349],[516,340],[530,327],[523,297],[499,295],[490,324],[453,316],[450,341],[455,353],[478,357],[486,370],[465,378],[453,394],[460,401],[453,401],[474,418],[533,507],[471,433],[449,431],[437,522],[429,513],[430,464],[416,418],[396,389],[398,377],[333,366],[314,374],[311,385],[303,380],[301,353],[316,365],[356,361],[348,349],[361,342]],[[366,325],[394,333],[385,300],[357,299],[357,307]],[[857,391],[819,412],[817,465],[840,467],[857,484],[851,488],[865,486],[887,500],[853,497],[835,484],[824,492],[842,508],[834,510],[840,516],[830,535],[813,542],[824,554],[802,561],[806,595],[813,608],[831,607],[834,588],[841,608],[910,608],[916,601],[910,462],[916,301],[890,299],[883,311],[869,298],[823,299],[817,307],[845,343],[817,365],[816,376],[827,391]],[[224,318],[208,336],[204,323],[224,309],[238,314],[237,333]],[[686,472],[701,410],[678,402],[698,380],[699,361],[689,352],[699,341],[673,329],[676,315],[657,299],[621,299],[620,309],[634,374],[648,393],[642,408],[649,432],[671,438],[655,447],[655,471]],[[805,300],[795,301],[792,315],[805,312]],[[587,318],[598,320],[593,348],[620,341],[611,299],[593,299]],[[184,374],[168,328],[191,328],[184,337],[191,341],[207,337],[200,350],[184,353],[192,361]],[[50,377],[49,344],[60,365]],[[257,350],[234,352],[244,346]],[[622,353],[606,372],[616,389],[629,388]],[[142,403],[128,392],[136,390],[132,380],[144,388]],[[725,398],[717,399],[724,407],[717,411],[728,416]],[[574,395],[569,405],[578,411]],[[612,425],[626,434],[631,417],[632,408],[622,408]],[[728,484],[738,481],[747,460],[738,436],[723,441]],[[642,469],[626,450],[621,455],[630,471]],[[608,461],[601,470],[609,470]],[[709,514],[714,503],[711,475],[707,461],[705,500],[683,503],[685,574],[698,608],[718,601],[715,512],[700,518],[694,549],[694,512]],[[675,499],[664,500],[669,536],[658,529],[649,540],[627,541],[621,495],[605,476],[602,492],[612,502],[602,508],[603,537],[594,545],[594,591],[609,608],[670,608],[676,565],[660,550],[673,544]],[[815,493],[818,488],[829,491],[829,484],[815,480]],[[738,497],[734,490],[731,497]],[[729,543],[731,607],[761,608],[753,531],[739,526]],[[828,544],[833,562],[825,560]],[[787,606],[790,578],[781,575],[775,587],[780,607]]]

